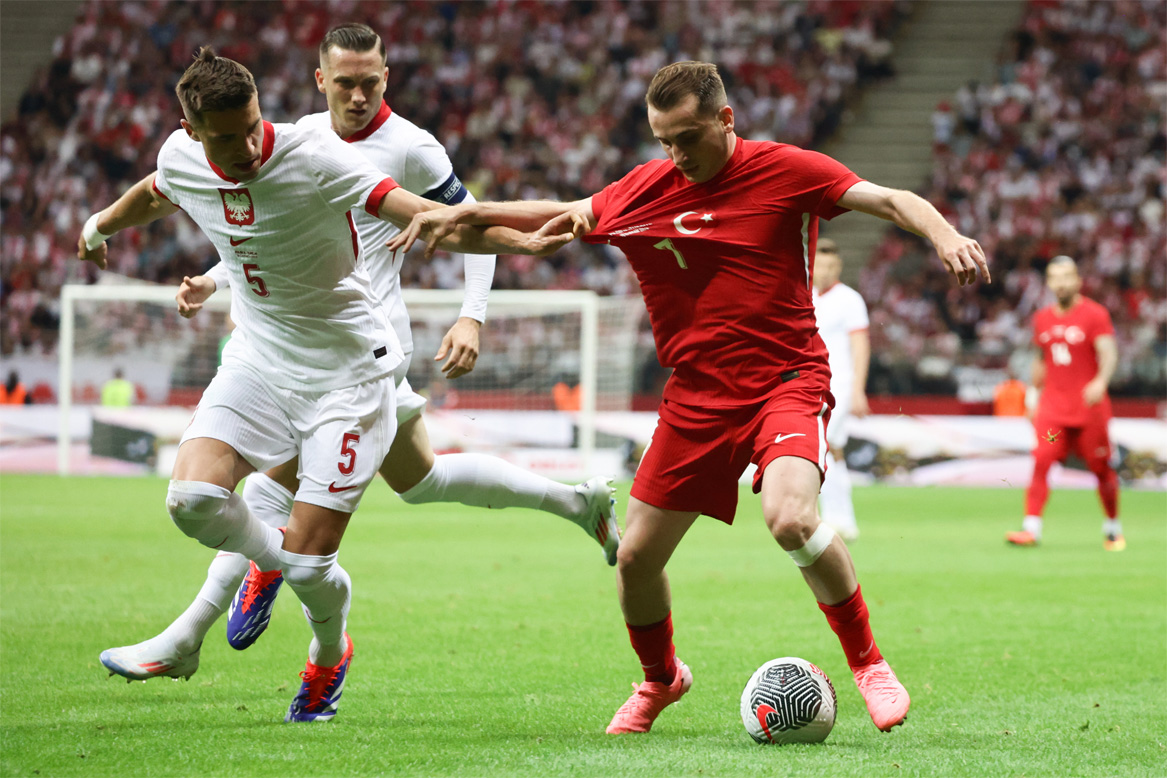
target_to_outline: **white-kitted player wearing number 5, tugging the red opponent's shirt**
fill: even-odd
[[[210,47],[176,92],[182,129],[163,143],[158,170],[90,217],[77,254],[104,268],[111,234],[181,208],[228,260],[238,327],[183,434],[167,509],[188,537],[287,579],[313,639],[285,721],[328,720],[352,657],[351,583],[337,549],[392,443],[397,422],[386,408],[404,362],[349,211],[404,224],[439,205],[403,190],[335,133],[265,122],[251,72]],[[569,239],[464,231],[447,247],[536,253]],[[281,538],[235,488],[296,456],[301,483]]]

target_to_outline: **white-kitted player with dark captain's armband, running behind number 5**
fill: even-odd
[[[473,202],[433,135],[390,110],[384,100],[386,73],[384,43],[370,27],[359,23],[334,27],[320,43],[316,70],[316,85],[329,110],[305,117],[298,126],[335,132],[408,191],[443,204]],[[398,227],[359,209],[352,211],[352,217],[365,250],[373,293],[382,301],[405,353],[405,362],[397,370],[401,376],[396,393],[398,430],[382,463],[382,477],[408,503],[461,502],[554,513],[579,524],[603,546],[608,563],[615,565],[620,534],[610,479],[596,477],[569,486],[497,457],[434,455],[421,420],[426,400],[404,378],[413,355],[398,274],[404,255],[394,255],[385,247]],[[446,359],[442,371],[447,378],[474,370],[478,328],[485,320],[494,274],[494,255],[464,254],[463,259],[466,297],[461,316],[446,334],[435,357]],[[196,315],[216,288],[228,283],[229,274],[222,261],[207,275],[186,279],[176,296],[179,311],[187,317]],[[243,498],[252,516],[281,527],[288,521],[298,488],[298,461],[292,460],[249,476]],[[281,582],[279,569],[264,572],[251,563],[249,570],[244,556],[221,552],[211,561],[202,589],[179,618],[154,638],[109,649],[102,654],[103,663],[111,672],[132,680],[161,675],[189,678],[198,667],[203,638],[229,607],[228,642],[243,650],[259,638],[271,618]]]

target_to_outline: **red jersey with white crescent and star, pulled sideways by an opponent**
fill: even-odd
[[[733,407],[791,370],[827,374],[811,274],[818,219],[862,181],[817,152],[739,138],[725,168],[691,183],[642,164],[592,197],[585,238],[621,248],[640,279],[666,400]]]

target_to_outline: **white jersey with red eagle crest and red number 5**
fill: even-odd
[[[259,173],[245,182],[184,131],[167,139],[154,188],[198,224],[229,272],[238,328],[225,360],[313,392],[401,364],[349,213],[376,210],[396,185],[330,131],[265,121]]]

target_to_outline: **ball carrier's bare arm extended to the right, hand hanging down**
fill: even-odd
[[[956,276],[960,286],[972,283],[978,269],[986,282],[992,282],[988,261],[980,244],[957,232],[941,212],[920,195],[860,181],[839,198],[838,204],[852,211],[862,211],[894,222],[901,230],[928,238],[936,247],[944,268]]]

